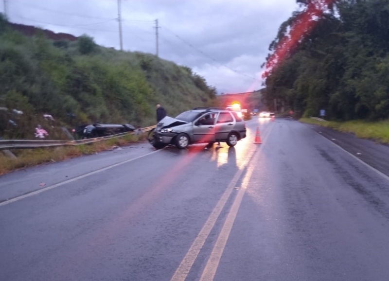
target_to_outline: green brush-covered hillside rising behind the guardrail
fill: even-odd
[[[104,48],[88,35],[77,41],[51,40],[43,31],[25,36],[0,14],[0,137],[33,139],[37,124],[51,139],[64,139],[61,127],[77,124],[149,126],[157,103],[175,116],[214,99],[215,88],[188,67]]]

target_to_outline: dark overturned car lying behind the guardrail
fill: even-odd
[[[91,124],[78,126],[75,133],[81,139],[90,139],[133,131],[135,127],[130,124]]]

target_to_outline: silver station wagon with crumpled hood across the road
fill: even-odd
[[[180,149],[194,143],[227,142],[235,146],[246,138],[246,123],[235,111],[217,107],[196,107],[179,114],[166,116],[149,133],[148,140],[155,148],[176,145]]]

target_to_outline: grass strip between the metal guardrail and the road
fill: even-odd
[[[142,140],[146,140],[146,133],[141,136],[128,135],[122,138],[74,146],[11,150],[17,158],[11,158],[0,152],[0,175],[43,163],[63,161],[82,155],[95,154],[115,146],[124,146]]]

